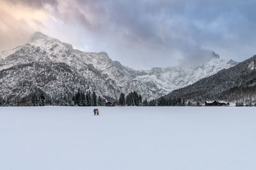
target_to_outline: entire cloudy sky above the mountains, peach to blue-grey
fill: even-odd
[[[136,69],[256,53],[255,0],[0,0],[0,51],[40,31]]]

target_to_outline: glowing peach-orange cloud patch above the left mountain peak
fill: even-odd
[[[48,18],[42,9],[0,0],[0,51],[26,43]]]

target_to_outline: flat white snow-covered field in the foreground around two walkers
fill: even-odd
[[[256,108],[0,107],[0,169],[256,169]]]

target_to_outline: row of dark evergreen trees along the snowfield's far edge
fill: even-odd
[[[59,99],[52,99],[41,90],[35,90],[30,97],[3,99],[0,97],[0,106],[105,106],[106,99],[102,96],[97,96],[94,91],[76,90],[74,94],[65,94]],[[160,97],[147,101],[147,98],[141,96],[137,92],[130,92],[125,95],[121,93],[119,98],[112,100],[115,106],[201,106],[200,102],[186,101],[181,97]],[[256,106],[256,103],[244,104],[243,102],[236,103],[236,106]]]

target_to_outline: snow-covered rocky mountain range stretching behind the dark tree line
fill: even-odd
[[[212,59],[200,67],[138,71],[111,60],[106,52],[82,52],[35,32],[26,45],[0,54],[0,95],[5,99],[22,98],[40,89],[58,99],[81,89],[94,90],[107,100],[132,91],[153,99],[236,64],[212,52]]]

